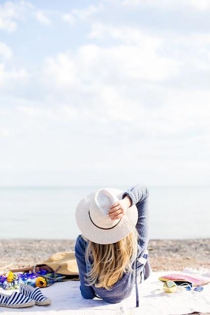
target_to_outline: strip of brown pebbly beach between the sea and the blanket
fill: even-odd
[[[0,240],[0,271],[40,263],[55,252],[74,251],[75,240]],[[210,269],[210,239],[150,240],[153,271]]]

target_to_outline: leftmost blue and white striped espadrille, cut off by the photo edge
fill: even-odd
[[[0,306],[20,309],[33,305],[35,301],[20,292],[14,291],[11,295],[0,293]]]

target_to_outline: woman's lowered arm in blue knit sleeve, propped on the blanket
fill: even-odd
[[[87,282],[84,279],[84,277],[86,277],[85,242],[86,241],[81,235],[77,237],[75,244],[75,257],[79,269],[81,294],[85,299],[93,299],[96,297],[95,292],[90,285],[85,285]]]

